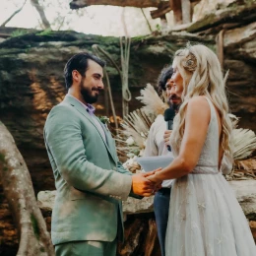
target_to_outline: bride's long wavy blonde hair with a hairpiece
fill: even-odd
[[[203,44],[190,45],[177,50],[173,65],[183,78],[183,93],[179,112],[175,117],[172,140],[180,147],[185,128],[185,110],[193,96],[208,96],[218,109],[222,121],[221,143],[225,155],[232,157],[232,124],[225,95],[225,79],[217,55]]]

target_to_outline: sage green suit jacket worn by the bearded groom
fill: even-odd
[[[52,212],[53,244],[123,239],[121,200],[131,191],[131,172],[118,161],[114,140],[106,142],[86,108],[72,96],[53,107],[44,140],[57,194]]]

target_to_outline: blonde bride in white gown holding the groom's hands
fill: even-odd
[[[178,50],[172,67],[176,94],[183,98],[170,136],[175,159],[148,177],[175,179],[166,256],[256,256],[250,228],[220,171],[223,156],[232,158],[220,62],[198,44]]]

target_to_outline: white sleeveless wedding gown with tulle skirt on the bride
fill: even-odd
[[[248,222],[218,169],[218,120],[208,101],[211,121],[198,164],[172,185],[166,256],[256,256]],[[170,141],[176,157],[178,147]]]

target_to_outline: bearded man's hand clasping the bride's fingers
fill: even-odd
[[[157,169],[159,170],[159,169]],[[149,176],[153,177],[157,170],[138,173],[132,175],[132,191],[134,194],[149,197],[155,194],[160,189],[160,183],[156,183],[149,179]]]

